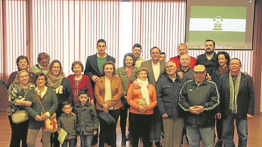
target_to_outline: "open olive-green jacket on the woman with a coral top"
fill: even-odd
[[[132,73],[131,73],[131,78],[130,80],[134,80],[135,79],[135,70],[137,69],[137,67],[132,66]],[[121,101],[122,103],[127,103],[127,100],[124,98],[127,95],[127,90],[128,90],[128,83],[129,83],[129,77],[127,75],[126,72],[126,67],[120,67],[116,70],[116,74],[121,78],[121,82],[123,85],[123,94],[121,97]]]

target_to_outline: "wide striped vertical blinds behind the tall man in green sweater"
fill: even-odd
[[[46,52],[61,61],[66,75],[71,64],[97,52],[96,42],[105,39],[106,52],[118,61],[118,0],[32,0],[32,62]],[[116,63],[118,65],[118,63]]]

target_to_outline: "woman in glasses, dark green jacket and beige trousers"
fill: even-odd
[[[50,147],[50,135],[44,128],[44,120],[52,116],[57,110],[58,101],[57,96],[53,88],[47,87],[47,78],[43,72],[37,72],[35,74],[34,83],[36,88],[31,89],[26,95],[26,101],[32,102],[30,107],[26,107],[26,111],[29,114],[29,127],[27,133],[27,146],[35,147],[35,139],[42,128],[42,144],[43,147]],[[40,104],[40,102],[41,104]],[[42,110],[45,110],[43,113]]]

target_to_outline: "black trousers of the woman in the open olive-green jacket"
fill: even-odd
[[[120,110],[120,128],[121,128],[122,137],[126,136],[127,112],[128,112],[129,108],[130,108],[130,105],[128,105],[127,103],[124,103],[124,109]],[[129,116],[129,118],[130,118],[130,116]],[[128,120],[129,120],[128,131],[129,131],[131,119],[128,119]]]

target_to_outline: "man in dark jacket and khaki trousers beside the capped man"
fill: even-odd
[[[180,146],[184,115],[179,107],[179,92],[187,77],[179,79],[176,76],[176,63],[172,60],[166,62],[166,74],[156,83],[157,106],[163,118],[165,132],[165,146]]]

